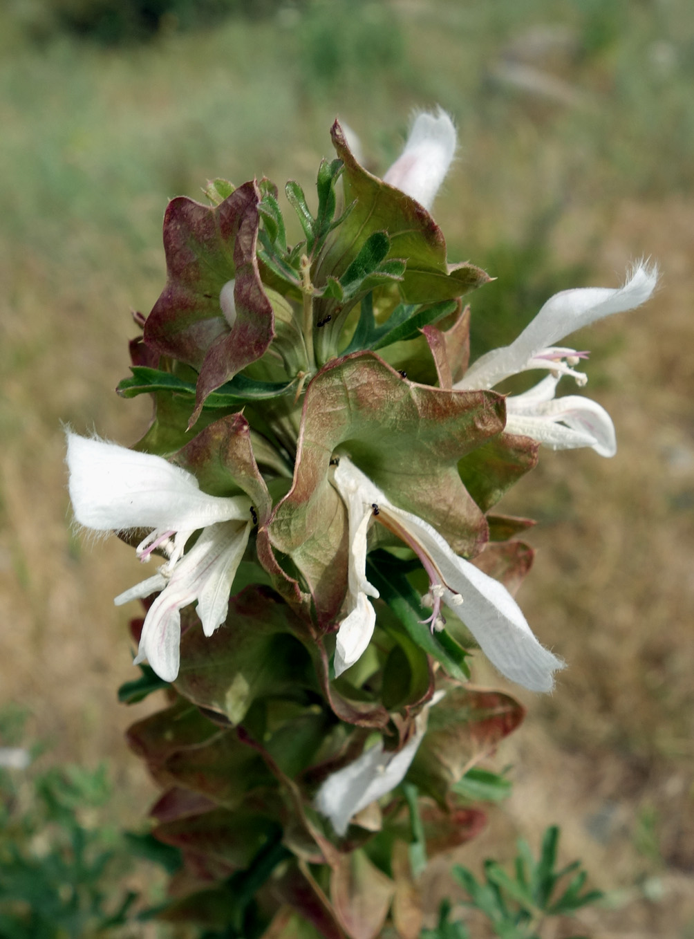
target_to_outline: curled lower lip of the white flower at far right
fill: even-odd
[[[579,394],[555,398],[558,382],[548,375],[530,391],[506,398],[506,431],[552,450],[592,447],[600,456],[614,456],[617,439],[605,408]]]

